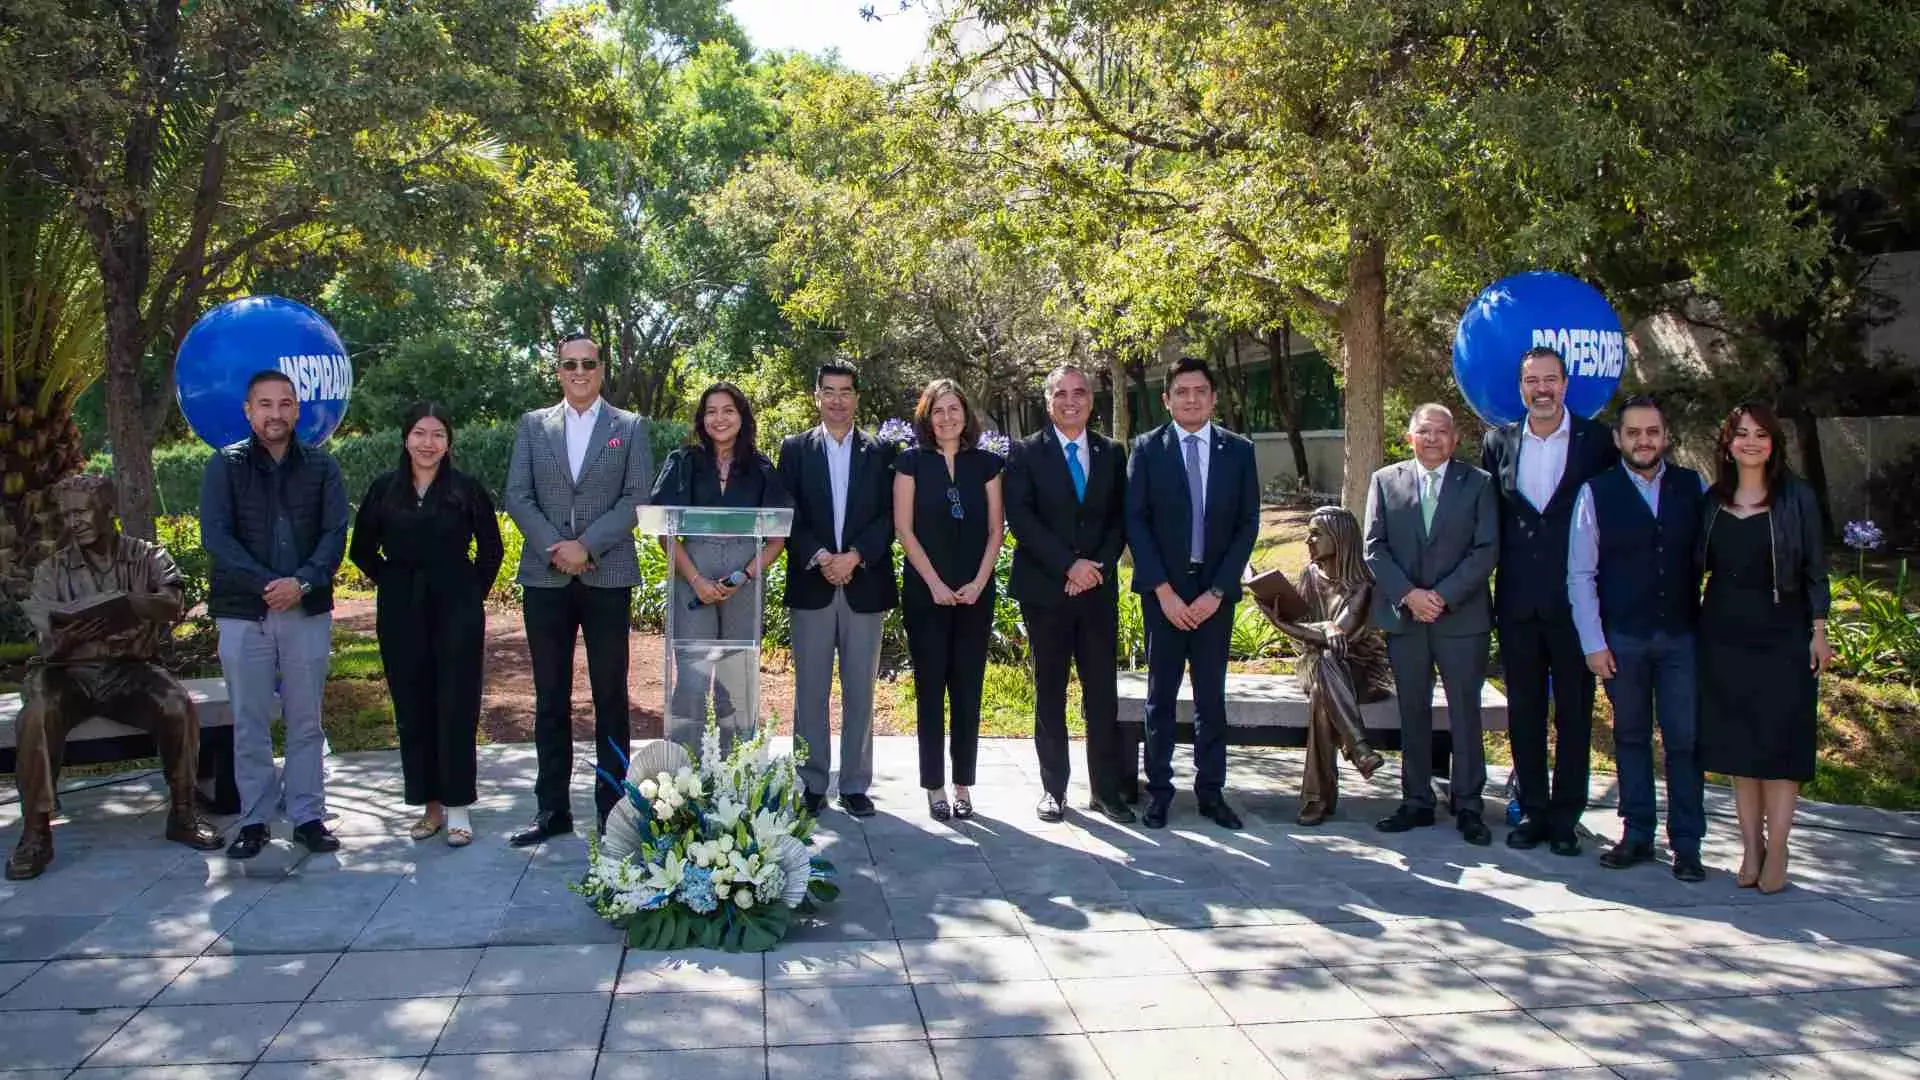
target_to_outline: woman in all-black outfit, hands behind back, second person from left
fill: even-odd
[[[486,488],[453,467],[453,423],[438,405],[415,405],[399,430],[399,469],[367,488],[348,555],[378,590],[405,798],[426,807],[411,834],[426,840],[445,828],[447,844],[465,847],[499,519]]]

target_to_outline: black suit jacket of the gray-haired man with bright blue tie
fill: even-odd
[[[1014,444],[1006,459],[1006,525],[1014,530],[1014,600],[1052,605],[1066,600],[1068,567],[1100,565],[1108,603],[1119,592],[1119,552],[1127,546],[1127,450],[1087,430],[1087,500],[1073,494],[1066,450],[1054,425]]]

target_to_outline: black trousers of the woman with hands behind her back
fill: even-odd
[[[474,801],[486,607],[465,580],[388,569],[376,626],[409,805]]]

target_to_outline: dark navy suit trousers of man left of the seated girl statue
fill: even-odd
[[[1198,571],[1175,575],[1173,592],[1192,603],[1206,582]],[[1194,796],[1215,799],[1227,788],[1227,655],[1233,603],[1221,603],[1198,630],[1181,630],[1160,613],[1154,594],[1140,596],[1146,621],[1146,794],[1173,799],[1173,723],[1181,678],[1194,688]]]

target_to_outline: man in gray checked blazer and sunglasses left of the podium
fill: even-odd
[[[566,782],[574,771],[574,640],[588,640],[593,748],[601,771],[624,776],[628,611],[639,584],[634,507],[647,502],[653,452],[647,423],[601,400],[599,346],[561,340],[555,375],[564,400],[520,417],[507,465],[507,513],[520,527],[520,611],[534,661],[534,749],[540,773],[534,822],[515,847],[574,830]],[[618,801],[593,784],[599,822]]]

